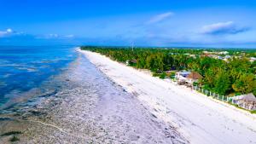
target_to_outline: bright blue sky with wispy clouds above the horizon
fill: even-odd
[[[256,0],[0,0],[0,45],[256,49]]]

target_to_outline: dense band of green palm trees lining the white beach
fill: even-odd
[[[203,78],[201,87],[220,95],[256,94],[256,61],[250,62],[247,56],[255,56],[255,51],[243,52],[239,58],[228,61],[204,56],[202,49],[127,49],[111,47],[84,46],[81,49],[106,55],[113,60],[125,62],[136,60],[134,66],[165,72],[170,70],[188,70],[199,72]],[[237,53],[236,50],[230,53]],[[246,55],[244,55],[246,54]]]

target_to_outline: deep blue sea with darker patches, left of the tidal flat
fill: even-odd
[[[75,59],[73,46],[0,46],[0,107]]]

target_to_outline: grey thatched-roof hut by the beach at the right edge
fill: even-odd
[[[253,95],[253,93],[234,96],[232,98],[232,103],[235,103],[239,107],[245,108],[247,110],[256,110],[256,97]]]

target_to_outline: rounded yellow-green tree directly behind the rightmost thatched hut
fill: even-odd
[[[237,92],[247,94],[255,89],[255,85],[256,81],[253,74],[242,74],[240,78],[236,79],[235,84],[232,84],[232,88]]]

